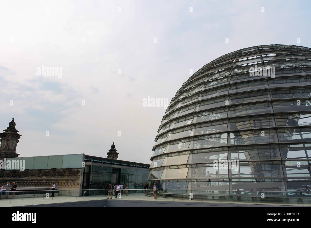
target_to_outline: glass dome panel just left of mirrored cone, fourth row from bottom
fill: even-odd
[[[190,149],[201,149],[227,145],[227,133],[195,137],[192,139]]]

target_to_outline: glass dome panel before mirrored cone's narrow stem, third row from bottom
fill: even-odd
[[[239,146],[229,148],[230,160],[281,159],[278,145]]]

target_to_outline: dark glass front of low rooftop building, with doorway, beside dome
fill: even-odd
[[[109,183],[144,189],[149,176],[149,164],[134,163],[85,155],[82,189],[107,189]]]

